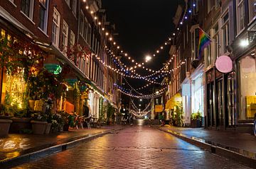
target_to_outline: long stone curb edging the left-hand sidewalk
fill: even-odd
[[[43,158],[46,156],[50,156],[53,153],[60,153],[61,151],[66,151],[66,150],[73,148],[75,146],[78,146],[86,141],[96,139],[97,137],[104,136],[105,134],[117,132],[121,129],[124,129],[124,128],[110,129],[105,132],[97,132],[95,134],[85,134],[80,139],[75,139],[73,141],[67,141],[64,144],[49,146],[48,148],[43,148],[41,150],[34,151],[32,153],[26,153],[21,156],[17,156],[15,158],[6,159],[6,160],[0,162],[0,166],[1,166],[1,168],[12,168],[12,167],[15,167],[16,165],[21,165],[23,163],[35,161],[38,158]]]

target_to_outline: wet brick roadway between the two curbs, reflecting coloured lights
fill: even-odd
[[[16,168],[247,168],[151,127],[127,127]]]

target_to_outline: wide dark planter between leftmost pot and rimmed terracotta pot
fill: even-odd
[[[11,133],[21,133],[24,129],[32,129],[27,109],[17,110],[11,120],[13,121],[10,128]]]

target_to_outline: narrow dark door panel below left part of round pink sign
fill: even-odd
[[[217,115],[217,126],[224,125],[224,115],[223,115],[223,87],[222,87],[223,79],[217,81],[217,88],[216,88],[216,115]]]

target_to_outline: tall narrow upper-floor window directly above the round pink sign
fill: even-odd
[[[222,49],[223,53],[227,52],[227,48],[230,41],[230,31],[229,31],[229,15],[228,12],[225,13],[222,19]]]

